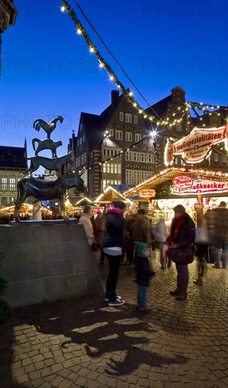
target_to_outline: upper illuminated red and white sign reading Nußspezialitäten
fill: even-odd
[[[182,154],[188,163],[203,162],[213,144],[227,142],[227,128],[227,125],[220,128],[194,128],[189,135],[175,143],[167,140],[164,152],[166,164],[173,164],[175,154]]]

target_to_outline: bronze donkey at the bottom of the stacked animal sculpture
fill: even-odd
[[[55,181],[42,181],[36,178],[22,178],[18,181],[18,197],[15,202],[13,218],[19,221],[18,212],[26,198],[32,195],[37,200],[59,200],[59,211],[61,217],[68,219],[65,210],[65,195],[68,188],[77,188],[78,191],[85,193],[87,188],[84,181],[78,173],[65,174]]]

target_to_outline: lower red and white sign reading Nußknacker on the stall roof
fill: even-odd
[[[172,188],[172,194],[208,194],[225,193],[228,191],[228,181],[211,181],[210,179],[193,179],[191,188]]]

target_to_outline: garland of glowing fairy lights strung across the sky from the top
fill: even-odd
[[[104,44],[104,47],[112,55],[112,57],[114,58],[116,63],[119,65],[121,70],[124,71],[124,74],[127,76],[128,80],[130,80],[130,82],[134,85],[134,87],[136,87],[136,90],[138,90],[138,92],[143,97],[145,102],[147,102],[147,104],[150,107],[150,109],[152,109],[154,111],[155,115],[157,116],[157,119],[155,118],[155,116],[152,116],[152,115],[148,114],[148,111],[145,111],[145,109],[140,107],[140,104],[138,102],[136,102],[136,99],[134,99],[134,97],[133,97],[133,92],[129,91],[128,89],[126,89],[126,87],[124,87],[124,85],[121,83],[121,81],[119,80],[117,75],[112,70],[112,67],[102,57],[102,55],[100,54],[99,49],[97,49],[95,44],[93,44],[92,40],[90,39],[88,33],[86,32],[86,30],[85,30],[85,28],[83,26],[83,24],[80,22],[80,20],[76,16],[76,13],[73,10],[73,8],[71,8],[71,6],[68,4],[68,2],[66,0],[61,0],[61,2],[63,4],[63,6],[61,7],[61,11],[62,12],[66,11],[68,13],[68,15],[71,17],[71,20],[73,21],[73,23],[76,26],[76,31],[77,31],[78,35],[82,36],[85,39],[85,41],[88,44],[88,48],[90,50],[90,53],[92,53],[92,54],[94,54],[96,56],[96,58],[97,58],[97,65],[100,68],[103,68],[104,71],[107,72],[107,74],[109,75],[109,80],[113,81],[116,84],[116,87],[119,90],[121,90],[121,92],[124,94],[124,96],[128,99],[128,102],[130,102],[133,105],[133,107],[138,110],[138,113],[140,115],[142,115],[144,119],[148,119],[149,121],[152,121],[153,123],[156,123],[157,126],[168,126],[169,128],[172,128],[172,126],[175,126],[176,124],[181,123],[181,121],[184,119],[185,114],[187,114],[188,118],[191,117],[191,115],[189,114],[189,110],[190,109],[192,109],[192,111],[196,115],[196,117],[200,117],[200,114],[198,113],[198,111],[200,111],[201,114],[209,114],[209,115],[214,115],[215,114],[217,116],[220,116],[220,112],[215,111],[215,109],[216,110],[217,109],[224,109],[224,111],[227,111],[227,109],[228,109],[227,107],[220,106],[220,105],[214,106],[214,105],[211,105],[211,104],[204,104],[203,102],[200,102],[200,103],[198,103],[198,102],[186,102],[186,106],[185,107],[179,106],[177,111],[172,113],[171,116],[167,116],[167,118],[164,119],[164,120],[161,119],[160,116],[158,116],[158,114],[155,112],[155,110],[152,109],[152,107],[150,107],[150,105],[148,104],[146,99],[139,92],[139,90],[136,87],[136,85],[133,84],[133,82],[128,77],[128,75],[126,74],[126,72],[124,71],[124,69],[120,65],[120,63],[118,61],[116,61],[114,55],[112,54],[112,51],[110,51],[107,48],[107,45],[104,43],[104,41],[102,40],[102,38],[100,37],[98,32],[95,30],[95,28],[93,27],[92,23],[90,23],[90,20],[88,20],[88,18],[85,16],[85,13],[83,12],[83,10],[80,7],[80,5],[78,4],[78,1],[75,0],[76,5],[80,9],[80,11],[83,13],[83,16],[86,18],[86,20],[88,20],[88,23],[90,24],[92,29],[97,34],[97,37],[99,37],[99,39],[102,41],[102,43]],[[174,119],[175,116],[176,116],[176,118]],[[205,124],[203,124],[203,126],[205,126]]]

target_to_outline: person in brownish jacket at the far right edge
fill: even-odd
[[[208,210],[205,219],[208,223],[209,243],[214,246],[215,264],[214,268],[220,268],[221,248],[222,248],[222,267],[227,267],[228,261],[228,209],[226,202],[221,201],[218,207]]]

